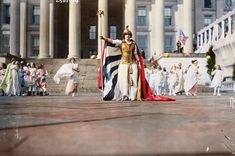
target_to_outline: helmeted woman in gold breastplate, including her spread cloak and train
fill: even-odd
[[[154,96],[145,78],[143,58],[131,37],[132,33],[128,26],[123,32],[123,40],[113,40],[100,36],[101,39],[106,41],[98,79],[98,87],[102,88],[103,99],[174,101],[175,99],[170,97]],[[112,48],[107,43],[116,45],[113,53],[111,53]],[[116,63],[118,68],[116,68]],[[107,66],[107,64],[112,64],[113,68]]]

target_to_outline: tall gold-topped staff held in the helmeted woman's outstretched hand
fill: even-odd
[[[100,27],[100,36],[102,36],[102,16],[104,16],[104,11],[103,10],[98,10],[96,15],[98,16],[98,19],[99,19],[99,27]],[[98,36],[98,39],[101,40]],[[103,46],[102,46],[102,40],[100,41],[100,53],[101,53],[101,57],[100,57],[100,73],[101,73],[101,90],[102,90],[102,93],[101,93],[101,96],[102,96],[102,100],[103,100],[103,93],[104,93],[104,87],[103,87],[103,60],[102,60],[102,49],[103,49]],[[99,51],[99,49],[98,49]]]

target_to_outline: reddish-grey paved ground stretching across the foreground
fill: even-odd
[[[0,155],[233,155],[230,97],[0,97]]]

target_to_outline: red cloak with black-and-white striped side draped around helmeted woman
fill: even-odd
[[[139,50],[138,50],[139,52]],[[139,68],[139,85],[141,100],[147,101],[175,101],[175,99],[167,96],[155,96],[146,81],[144,72],[144,60],[140,58]],[[112,44],[104,44],[102,51],[101,66],[98,75],[98,88],[103,92],[104,100],[115,100],[119,95],[117,86],[118,66],[121,59],[121,51],[119,47]],[[137,93],[138,94],[138,93]],[[139,100],[137,95],[137,100]]]

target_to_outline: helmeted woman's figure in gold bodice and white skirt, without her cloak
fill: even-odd
[[[137,100],[139,56],[136,43],[131,37],[132,33],[128,26],[123,32],[123,40],[101,36],[101,39],[119,46],[121,50],[122,56],[118,67],[117,85],[120,90],[119,98],[124,101]]]

